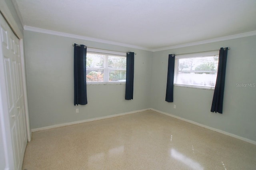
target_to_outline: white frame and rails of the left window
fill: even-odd
[[[112,55],[112,56],[118,56],[118,57],[125,57],[126,58],[126,52],[119,52],[119,51],[111,51],[111,50],[106,50],[106,49],[98,49],[98,48],[90,48],[87,47],[86,53],[96,53],[96,54],[102,54],[102,55]],[[105,61],[106,62],[106,61]],[[109,73],[109,71],[112,70],[124,70],[124,69],[109,69],[108,67],[86,67],[86,69],[97,69],[97,70],[103,70],[104,73]],[[126,69],[125,69],[126,71]],[[121,85],[121,84],[126,84],[126,81],[105,81],[106,77],[103,77],[104,81],[102,82],[88,82],[86,81],[87,85]]]

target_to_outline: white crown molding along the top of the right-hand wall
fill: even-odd
[[[189,46],[193,46],[193,45],[201,45],[201,44],[206,44],[206,43],[220,42],[220,41],[232,40],[232,39],[236,39],[236,38],[244,38],[244,37],[250,37],[250,36],[256,36],[256,30],[251,31],[251,32],[241,33],[241,34],[235,34],[235,35],[231,35],[231,36],[213,38],[213,39],[210,39],[210,40],[203,40],[203,41],[199,41],[199,42],[184,43],[184,44],[179,44],[179,45],[172,45],[172,46],[169,46],[169,47],[156,48],[156,49],[153,49],[152,51],[153,52],[155,52],[155,51],[164,51],[164,50],[168,50],[168,49],[189,47]]]

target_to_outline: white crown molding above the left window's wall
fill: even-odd
[[[30,27],[30,26],[24,26],[24,30],[26,31],[32,31],[32,32],[39,32],[39,33],[44,33],[44,34],[50,34],[54,36],[62,36],[62,37],[68,37],[68,38],[76,38],[79,40],[87,40],[87,41],[93,41],[93,42],[99,42],[99,43],[108,43],[112,45],[119,45],[122,47],[130,47],[130,48],[136,48],[136,49],[142,49],[146,51],[152,51],[153,49],[146,48],[146,47],[140,47],[137,45],[131,45],[131,44],[126,44],[126,43],[120,43],[120,42],[112,42],[108,40],[102,40],[102,39],[97,39],[97,38],[91,38],[91,37],[86,37],[86,36],[78,36],[75,34],[68,34],[64,32],[57,32],[57,31],[52,31],[52,30],[45,30],[42,28],[36,28],[36,27]]]

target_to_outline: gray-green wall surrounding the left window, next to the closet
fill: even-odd
[[[125,84],[88,85],[87,105],[74,106],[73,43],[113,51],[134,51],[134,99]],[[150,108],[150,51],[24,31],[31,128],[82,121]],[[80,113],[76,113],[78,108]]]

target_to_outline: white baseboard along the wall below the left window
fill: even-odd
[[[150,109],[142,109],[142,110],[137,110],[137,111],[132,111],[132,112],[120,113],[120,114],[116,114],[116,115],[97,117],[97,118],[92,118],[92,119],[85,119],[85,120],[82,120],[82,121],[62,123],[62,124],[58,124],[58,125],[51,125],[51,126],[48,126],[48,127],[33,128],[33,129],[31,129],[31,131],[36,132],[36,131],[46,130],[46,129],[50,129],[50,128],[65,127],[65,126],[68,126],[68,125],[75,125],[75,124],[79,124],[79,123],[98,121],[98,120],[101,120],[101,119],[107,119],[107,118],[111,118],[111,117],[118,117],[118,116],[128,115],[128,114],[132,114],[132,113],[143,112],[143,111],[147,111],[147,110],[150,110]]]

